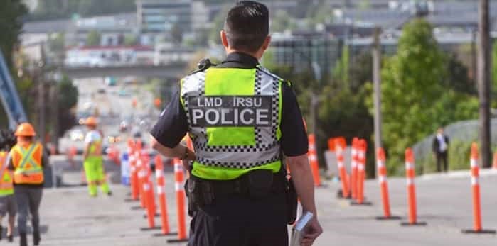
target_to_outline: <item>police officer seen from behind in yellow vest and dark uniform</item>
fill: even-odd
[[[238,2],[220,32],[226,59],[215,67],[203,60],[183,78],[151,130],[151,146],[183,160],[190,171],[188,245],[288,245],[294,211],[283,155],[304,211],[314,213],[301,245],[322,233],[296,96],[291,84],[258,62],[269,47],[268,33],[267,6]],[[180,144],[186,133],[195,152]]]

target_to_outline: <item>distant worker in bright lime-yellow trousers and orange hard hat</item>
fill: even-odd
[[[90,116],[86,119],[85,125],[89,131],[85,138],[83,167],[85,167],[88,191],[90,196],[97,196],[97,186],[100,185],[102,192],[110,196],[112,192],[105,178],[102,157],[102,133],[97,130],[97,119]]]

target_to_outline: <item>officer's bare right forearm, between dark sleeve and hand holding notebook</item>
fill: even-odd
[[[304,211],[309,211],[317,216],[316,204],[314,203],[314,181],[307,154],[287,157],[286,160],[290,170],[292,170],[296,194],[300,198]]]

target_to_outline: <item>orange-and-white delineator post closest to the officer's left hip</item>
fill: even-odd
[[[176,190],[176,213],[178,215],[178,238],[167,242],[188,242],[186,236],[185,189],[183,188],[183,163],[174,158],[174,189]]]

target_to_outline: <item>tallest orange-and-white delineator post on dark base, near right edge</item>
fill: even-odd
[[[483,230],[481,228],[481,203],[480,203],[480,174],[478,166],[478,145],[471,145],[471,187],[473,189],[473,229],[462,230],[463,233],[487,233],[495,234],[496,230]]]

